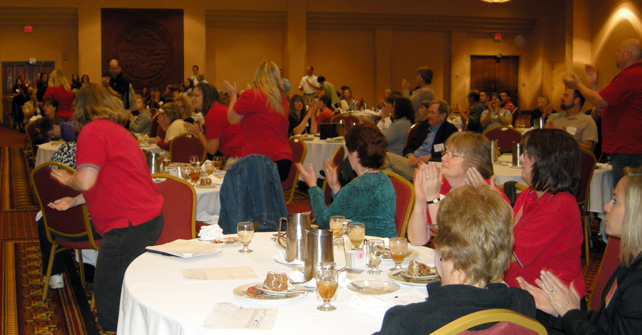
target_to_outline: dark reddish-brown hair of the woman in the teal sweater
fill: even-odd
[[[345,146],[349,153],[357,152],[364,168],[378,169],[386,158],[388,141],[374,123],[359,123],[345,134]]]

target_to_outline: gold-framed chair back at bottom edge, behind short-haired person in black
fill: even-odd
[[[479,326],[481,324],[488,324],[496,322],[488,329],[469,331],[468,329]],[[449,324],[442,326],[437,331],[432,332],[431,335],[546,335],[546,328],[538,321],[511,311],[509,309],[486,309],[484,311],[476,311],[460,317]]]

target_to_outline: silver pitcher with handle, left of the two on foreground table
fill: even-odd
[[[285,226],[285,245],[281,242],[281,224],[286,222]],[[292,262],[295,259],[305,260],[305,249],[307,246],[307,228],[310,228],[310,212],[296,213],[281,217],[279,220],[279,230],[277,242],[281,247],[285,247],[285,260]]]

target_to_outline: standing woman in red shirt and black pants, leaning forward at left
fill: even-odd
[[[125,270],[161,234],[163,197],[138,142],[123,127],[129,112],[121,100],[88,83],[78,91],[74,107],[76,172],[51,170],[51,176],[81,191],[82,197],[65,197],[49,206],[66,210],[87,204],[103,237],[93,279],[98,324],[103,331],[116,331]]]

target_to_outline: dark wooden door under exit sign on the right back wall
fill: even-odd
[[[511,101],[518,106],[518,68],[519,56],[471,56],[470,88],[497,93],[509,91]]]

